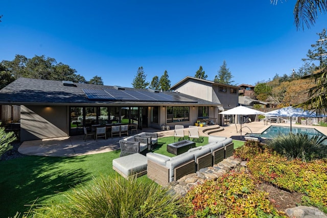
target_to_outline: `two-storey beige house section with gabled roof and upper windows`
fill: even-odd
[[[215,110],[213,113],[204,113],[207,109],[203,108],[202,113],[201,110],[199,110],[198,114],[198,117],[214,118],[215,122],[218,122],[219,125],[224,124],[224,117],[222,115],[218,115],[218,113],[236,107],[239,103],[238,86],[221,84],[191,76],[186,76],[171,86],[171,90],[178,93],[188,94],[207,102],[216,102],[221,104],[221,106],[214,108]]]

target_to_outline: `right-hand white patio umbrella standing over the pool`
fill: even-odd
[[[266,116],[279,116],[279,117],[290,117],[291,120],[291,132],[292,132],[292,117],[324,117],[325,115],[317,116],[316,113],[305,111],[299,107],[283,107],[281,109],[271,111],[265,114]]]

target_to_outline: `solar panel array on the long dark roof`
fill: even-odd
[[[116,90],[116,89],[102,89],[89,90],[82,89],[85,95],[90,100],[108,100],[108,101],[162,101],[162,102],[192,102],[196,101],[180,97],[168,95],[162,92],[150,92],[148,90]]]

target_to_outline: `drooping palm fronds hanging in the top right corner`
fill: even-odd
[[[270,0],[270,2],[276,5],[278,0]],[[297,0],[293,11],[296,28],[304,29],[305,25],[310,28],[316,23],[318,12],[322,14],[326,11],[326,0]]]

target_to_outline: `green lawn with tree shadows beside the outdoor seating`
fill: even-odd
[[[160,138],[153,152],[174,156],[167,152],[167,144],[174,142],[174,137]],[[203,143],[207,144],[204,137]],[[240,141],[234,141],[235,145]],[[243,142],[244,143],[244,142]],[[238,145],[239,146],[239,145]],[[14,216],[35,204],[64,201],[64,192],[72,187],[92,182],[92,177],[99,175],[118,175],[112,169],[112,159],[118,158],[120,151],[111,151],[97,155],[79,157],[39,157],[28,156],[8,161],[0,161],[0,211],[2,217]],[[149,181],[147,176],[138,178]]]

